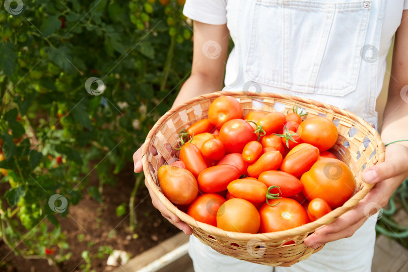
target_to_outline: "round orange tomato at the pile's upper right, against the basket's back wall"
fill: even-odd
[[[300,138],[303,142],[311,144],[326,151],[337,141],[337,127],[335,124],[321,116],[310,117],[300,123],[302,134]]]

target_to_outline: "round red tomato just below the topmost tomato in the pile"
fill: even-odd
[[[246,144],[256,141],[253,127],[242,119],[226,122],[220,129],[220,141],[225,146],[226,153],[242,153]]]

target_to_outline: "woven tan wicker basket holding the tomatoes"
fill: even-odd
[[[317,221],[286,231],[262,234],[224,231],[197,222],[178,210],[161,192],[158,186],[157,170],[161,165],[178,157],[178,151],[170,148],[179,141],[177,132],[182,128],[187,128],[195,121],[208,118],[211,102],[223,95],[239,99],[244,115],[253,110],[276,111],[274,106],[280,107],[286,113],[297,103],[300,108],[306,110],[307,118],[320,114],[333,120],[337,126],[338,139],[330,151],[350,166],[356,179],[356,193],[342,207],[333,210]],[[255,108],[252,103],[253,100],[259,101],[263,106]],[[366,144],[369,141],[367,147],[363,144],[365,141]],[[157,155],[149,152],[152,146],[157,149]],[[333,222],[337,217],[354,208],[370,191],[373,185],[364,183],[360,173],[365,167],[384,161],[385,148],[378,132],[365,120],[349,111],[310,99],[288,95],[223,91],[195,97],[168,111],[150,130],[142,154],[145,177],[154,194],[170,212],[193,229],[193,235],[202,243],[237,259],[269,266],[290,266],[307,259],[324,246],[317,249],[306,247],[303,241],[310,233],[324,224]],[[291,240],[295,243],[284,245]]]

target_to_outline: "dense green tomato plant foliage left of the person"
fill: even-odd
[[[177,1],[162,3],[32,0],[21,14],[0,11],[0,168],[8,173],[0,178],[11,186],[0,209],[11,247],[28,231],[37,235],[22,242],[26,254],[69,258],[58,218],[84,193],[102,201],[113,174],[132,171],[133,152],[191,69],[191,26]],[[88,186],[93,172],[99,184]],[[61,213],[49,206],[54,194],[69,203]],[[45,250],[57,247],[59,259]]]

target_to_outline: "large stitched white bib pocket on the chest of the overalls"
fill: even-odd
[[[345,96],[356,89],[370,1],[258,0],[245,72],[264,85]]]

